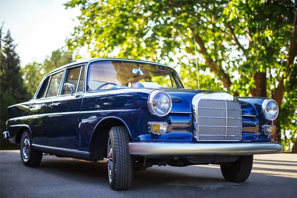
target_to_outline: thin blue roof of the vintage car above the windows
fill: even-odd
[[[149,63],[149,64],[157,64],[157,65],[161,65],[161,66],[165,66],[165,67],[169,67],[171,69],[174,69],[173,67],[171,66],[168,66],[168,65],[164,65],[164,64],[160,64],[160,63],[156,63],[156,62],[150,62],[150,61],[147,61],[147,60],[137,60],[137,59],[128,59],[128,58],[108,58],[108,57],[101,57],[101,58],[87,58],[87,59],[79,59],[79,60],[76,60],[74,62],[71,62],[69,64],[66,64],[66,65],[63,65],[61,67],[58,67],[52,71],[50,71],[49,73],[47,73],[44,77],[48,76],[49,74],[51,73],[54,73],[56,71],[59,71],[59,70],[62,70],[66,67],[69,67],[69,66],[74,66],[74,65],[80,65],[80,64],[84,64],[84,63],[88,63],[88,62],[91,62],[91,61],[94,61],[94,60],[130,60],[130,61],[140,61],[140,62],[144,62],[144,63]],[[174,69],[175,70],[175,69]]]

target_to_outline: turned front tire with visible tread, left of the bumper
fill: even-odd
[[[107,142],[107,170],[109,185],[115,191],[127,190],[132,184],[133,157],[129,153],[129,142],[129,132],[125,127],[117,126],[110,129]]]

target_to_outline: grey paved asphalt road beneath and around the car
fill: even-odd
[[[254,155],[245,183],[226,182],[217,165],[153,166],[135,172],[129,191],[112,191],[105,162],[44,155],[38,168],[0,151],[0,198],[296,198],[297,154]]]

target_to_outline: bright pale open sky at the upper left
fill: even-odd
[[[21,66],[42,62],[52,50],[65,46],[78,8],[64,8],[65,0],[0,0],[0,24],[8,29],[17,44]]]

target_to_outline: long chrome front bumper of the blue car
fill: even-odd
[[[129,143],[133,155],[251,155],[282,152],[280,143]]]

